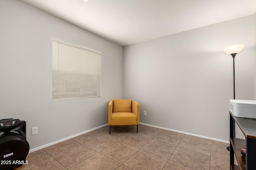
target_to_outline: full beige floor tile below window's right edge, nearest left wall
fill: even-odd
[[[116,143],[116,141],[113,139],[104,136],[98,136],[90,141],[84,142],[83,145],[89,147],[90,149],[96,150],[97,152],[100,152],[100,150],[105,149],[114,143]]]

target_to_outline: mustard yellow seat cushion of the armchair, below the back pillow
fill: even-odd
[[[132,112],[112,113],[112,125],[136,125],[137,116]]]

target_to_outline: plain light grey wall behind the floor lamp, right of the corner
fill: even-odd
[[[254,98],[254,15],[123,47],[123,98],[140,103],[140,122],[229,141],[233,59],[236,99]],[[147,111],[147,116],[143,115]]]

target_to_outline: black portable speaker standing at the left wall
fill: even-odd
[[[26,121],[0,120],[0,170],[11,170],[28,164],[29,144],[26,140]]]

